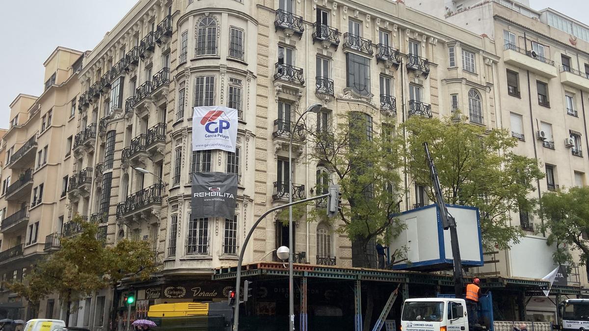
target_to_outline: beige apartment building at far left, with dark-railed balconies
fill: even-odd
[[[77,125],[82,58],[80,51],[57,47],[43,64],[42,94],[19,94],[10,104],[10,127],[1,151],[2,281],[23,279],[37,260],[59,247],[69,205],[70,134]],[[39,312],[39,307],[27,307],[26,300],[4,289],[0,302],[7,316],[33,318]],[[55,298],[44,308],[51,310],[45,316],[57,316],[53,314],[59,311]]]

